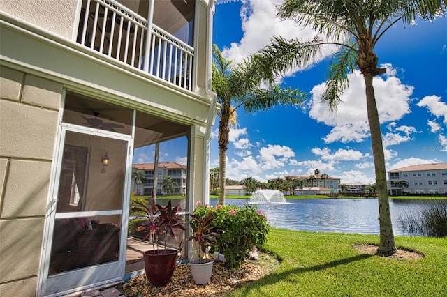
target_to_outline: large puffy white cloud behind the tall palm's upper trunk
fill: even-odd
[[[383,66],[383,65],[382,65]],[[386,65],[386,77],[374,77],[374,91],[377,109],[381,123],[397,121],[408,114],[410,96],[413,86],[402,84],[400,79],[393,77],[395,71]],[[342,95],[337,114],[330,114],[325,102],[321,102],[325,83],[314,86],[312,101],[309,103],[309,116],[318,122],[332,126],[332,130],[324,137],[325,143],[332,142],[362,142],[369,137],[367,119],[365,82],[360,71],[349,74],[349,87]],[[395,123],[390,125],[393,127]]]

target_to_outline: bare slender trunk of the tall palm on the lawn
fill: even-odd
[[[388,256],[397,252],[393,224],[391,222],[390,204],[388,201],[388,187],[386,183],[385,156],[383,153],[382,134],[377,112],[376,98],[372,78],[374,75],[364,72],[366,85],[366,102],[368,111],[369,130],[371,130],[372,154],[376,171],[377,196],[379,201],[380,243],[377,253]]]

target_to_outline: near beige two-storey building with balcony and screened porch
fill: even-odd
[[[207,199],[213,10],[0,1],[2,296],[77,294],[138,273],[124,232],[135,148],[184,137],[185,215]]]

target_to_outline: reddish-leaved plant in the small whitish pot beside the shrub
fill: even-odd
[[[207,257],[207,248],[217,245],[217,232],[222,228],[212,226],[213,211],[210,210],[205,217],[199,215],[191,215],[191,228],[193,234],[189,240],[196,245],[198,259],[189,261],[191,274],[196,284],[209,284],[212,275],[212,265],[214,259]]]

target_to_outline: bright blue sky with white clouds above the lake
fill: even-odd
[[[241,61],[269,43],[272,36],[312,38],[314,32],[275,18],[282,0],[219,0],[214,13],[213,43],[223,54]],[[275,107],[256,115],[237,113],[230,132],[226,177],[253,176],[267,181],[279,176],[321,173],[342,183],[375,183],[371,139],[360,73],[349,76],[349,88],[338,112],[330,115],[319,98],[323,91],[330,48],[312,68],[297,69],[282,84],[308,94],[300,108]],[[402,23],[376,46],[385,75],[374,78],[387,170],[427,162],[447,162],[447,20]],[[211,164],[219,166],[218,119],[213,128]],[[186,160],[177,143],[161,144],[161,162]],[[164,146],[163,146],[164,145]],[[145,160],[135,155],[135,161]],[[152,158],[151,158],[152,159]],[[145,160],[153,162],[153,160]]]

